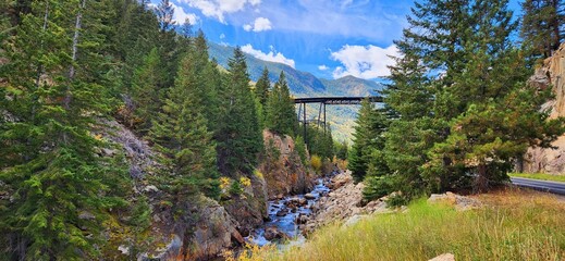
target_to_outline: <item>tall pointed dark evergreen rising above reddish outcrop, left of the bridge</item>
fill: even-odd
[[[249,174],[262,150],[255,102],[249,87],[245,54],[235,48],[229,60],[229,75],[221,91],[222,112],[219,117],[218,160],[222,174]]]

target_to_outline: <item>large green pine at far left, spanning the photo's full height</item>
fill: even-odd
[[[118,202],[105,183],[119,167],[96,154],[102,142],[90,133],[106,94],[90,71],[101,66],[93,47],[103,46],[96,8],[33,2],[11,42],[0,181],[13,200],[1,202],[0,231],[20,249],[12,259],[95,259],[105,210]]]

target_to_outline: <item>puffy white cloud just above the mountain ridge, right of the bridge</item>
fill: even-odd
[[[389,55],[400,55],[395,45],[391,45],[384,49],[372,45],[346,45],[330,55],[332,60],[343,64],[343,66],[335,67],[333,77],[341,78],[352,75],[359,78],[371,79],[388,76],[391,72],[386,66],[394,64],[394,60]]]

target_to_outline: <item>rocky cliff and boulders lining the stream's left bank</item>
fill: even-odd
[[[105,257],[113,260],[213,259],[224,250],[242,246],[243,237],[263,223],[268,217],[268,195],[305,192],[312,187],[314,174],[303,164],[293,139],[265,132],[266,145],[278,153],[266,154],[260,171],[236,178],[242,184],[239,195],[225,192],[220,201],[193,195],[183,206],[176,206],[175,212],[158,184],[159,173],[167,172],[159,163],[162,156],[116,121],[100,120],[100,123],[103,127],[96,133],[109,141],[109,147],[100,148],[99,153],[123,154],[135,184],[128,201],[144,198],[149,204],[147,227],[125,231],[116,224],[106,233],[110,244],[103,249]],[[225,178],[230,183],[236,179]],[[223,188],[228,189],[229,186]]]

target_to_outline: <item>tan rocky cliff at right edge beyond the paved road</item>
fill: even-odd
[[[565,44],[545,59],[529,83],[541,89],[552,88],[555,98],[548,101],[543,109],[551,110],[551,119],[565,116]],[[565,136],[560,137],[553,146],[556,149],[529,149],[525,156],[524,172],[565,174]]]

